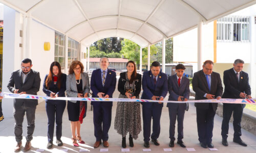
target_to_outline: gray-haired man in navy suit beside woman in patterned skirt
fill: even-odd
[[[109,70],[109,59],[100,59],[100,69],[96,69],[91,77],[91,90],[93,97],[112,98],[116,88],[116,72]],[[94,136],[96,142],[94,148],[99,147],[101,139],[104,147],[109,147],[109,129],[111,125],[112,101],[92,101]]]

